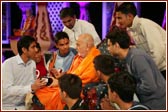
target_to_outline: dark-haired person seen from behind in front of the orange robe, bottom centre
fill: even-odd
[[[74,74],[65,74],[58,79],[60,95],[66,105],[64,110],[88,110],[87,104],[80,98],[82,80]]]

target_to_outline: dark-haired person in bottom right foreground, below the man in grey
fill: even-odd
[[[128,72],[119,72],[108,79],[109,99],[121,110],[149,110],[145,105],[133,101],[136,81]]]

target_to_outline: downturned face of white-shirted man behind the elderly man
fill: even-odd
[[[67,16],[65,18],[62,18],[62,23],[68,27],[69,29],[72,29],[75,25],[75,21],[76,21],[76,17],[70,17],[70,16]]]

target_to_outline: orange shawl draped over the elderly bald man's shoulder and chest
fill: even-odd
[[[76,74],[82,79],[82,84],[85,86],[90,82],[97,82],[96,70],[94,68],[93,59],[100,55],[100,51],[93,47],[88,55],[82,59],[79,55],[76,55],[68,73]]]

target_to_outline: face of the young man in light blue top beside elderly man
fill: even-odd
[[[56,47],[59,49],[61,55],[66,55],[69,52],[69,39],[60,39],[58,43],[56,43]]]

